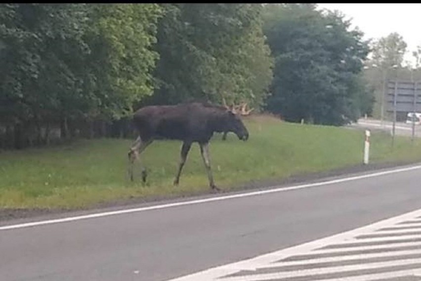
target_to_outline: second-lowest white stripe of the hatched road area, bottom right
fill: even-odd
[[[406,260],[397,260],[397,261],[388,261],[388,262],[328,267],[328,268],[313,268],[313,269],[304,269],[304,270],[288,271],[288,272],[243,275],[243,276],[221,278],[221,280],[223,281],[260,281],[260,280],[273,280],[273,279],[293,278],[293,277],[309,277],[312,275],[330,274],[330,273],[337,273],[339,275],[339,274],[346,274],[347,272],[350,272],[350,271],[377,269],[377,268],[391,267],[391,266],[406,266],[406,265],[413,265],[413,264],[420,264],[420,263],[421,263],[421,258],[406,259]],[[358,275],[358,274],[355,274],[355,275]]]

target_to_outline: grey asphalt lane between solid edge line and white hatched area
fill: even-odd
[[[3,224],[0,280],[174,279],[419,209],[420,179],[421,167],[84,220]]]

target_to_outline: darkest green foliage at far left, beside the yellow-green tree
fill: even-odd
[[[86,22],[83,4],[0,7],[0,116],[9,122],[72,113],[80,92],[79,58]]]

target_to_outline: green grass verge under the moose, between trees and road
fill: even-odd
[[[360,130],[280,122],[270,117],[246,121],[247,142],[229,134],[211,141],[215,183],[224,189],[258,180],[328,171],[362,162]],[[142,185],[127,178],[127,149],[132,140],[81,140],[52,148],[0,153],[1,208],[76,208],[133,197],[195,194],[207,190],[208,179],[199,147],[193,145],[179,187],[172,181],[181,142],[155,141],[142,154],[149,175]],[[411,145],[398,137],[373,133],[372,163],[421,160],[421,141]],[[138,168],[138,167],[137,167]]]

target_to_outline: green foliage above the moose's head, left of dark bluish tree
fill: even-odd
[[[259,104],[271,80],[261,5],[164,4],[154,103],[188,98]]]

